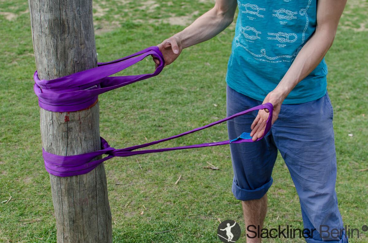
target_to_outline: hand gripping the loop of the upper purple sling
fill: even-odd
[[[183,48],[181,47],[181,41],[177,36],[172,36],[169,39],[162,41],[158,45],[160,51],[162,52],[163,58],[165,60],[165,66],[171,64],[180,55]],[[153,57],[153,61],[158,68],[160,61]]]

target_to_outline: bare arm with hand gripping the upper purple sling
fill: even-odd
[[[184,48],[209,40],[226,29],[234,20],[236,7],[236,0],[216,0],[215,6],[211,10],[183,31],[159,44],[158,47],[163,54],[165,65],[175,61]],[[157,67],[158,59],[154,58],[153,60]]]

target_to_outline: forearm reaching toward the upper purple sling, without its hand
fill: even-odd
[[[233,0],[216,1],[215,7],[174,36],[180,39],[183,48],[209,40],[233,22],[236,6]]]

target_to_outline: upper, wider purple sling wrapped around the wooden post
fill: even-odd
[[[160,65],[153,73],[108,77],[114,73],[142,61],[153,55],[160,60]],[[33,90],[38,96],[38,104],[45,110],[71,112],[88,108],[94,104],[99,94],[125,85],[158,75],[164,67],[162,53],[157,46],[152,46],[128,57],[112,62],[99,63],[98,67],[73,73],[53,80],[40,80],[37,71],[33,75]]]

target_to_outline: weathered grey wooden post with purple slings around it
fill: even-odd
[[[55,79],[97,66],[92,0],[28,0],[40,79]],[[77,112],[40,109],[43,148],[56,155],[100,149],[99,104]],[[88,174],[50,174],[57,242],[112,242],[105,167]]]

